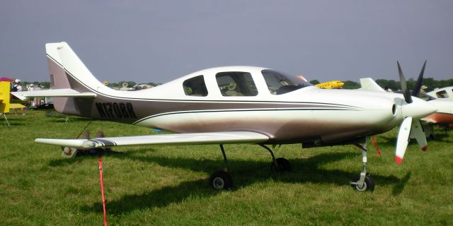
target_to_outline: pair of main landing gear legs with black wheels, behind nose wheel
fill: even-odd
[[[268,150],[270,155],[272,155],[273,161],[270,164],[270,170],[272,172],[281,173],[291,171],[291,164],[287,159],[283,157],[275,158],[275,155],[270,148],[263,144],[260,144],[260,146],[265,148],[265,150]],[[220,150],[222,150],[222,155],[224,156],[224,169],[211,174],[209,179],[210,186],[215,190],[231,190],[233,188],[233,179],[231,179],[231,176],[228,173],[228,162],[226,162],[226,154],[223,145],[220,145]]]

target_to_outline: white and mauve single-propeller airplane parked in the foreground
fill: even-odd
[[[279,145],[302,143],[302,148],[313,148],[352,144],[362,150],[362,172],[350,184],[357,191],[373,191],[374,181],[367,172],[367,136],[401,124],[396,145],[396,162],[401,163],[410,133],[426,145],[418,119],[436,110],[428,102],[406,93],[396,97],[366,90],[320,89],[294,76],[257,66],[217,67],[152,89],[113,90],[91,74],[66,42],[47,43],[45,47],[52,90],[13,95],[21,99],[54,97],[55,109],[64,114],[174,133],[91,139],[36,138],[35,143],[79,149],[216,144],[225,163],[225,144],[257,144],[272,156],[270,168],[275,172],[291,169],[288,160],[275,157],[273,149]],[[401,71],[400,78],[407,90]],[[233,186],[227,170],[214,172],[209,182],[217,190]]]

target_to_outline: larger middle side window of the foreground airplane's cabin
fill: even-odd
[[[258,90],[251,73],[240,71],[221,72],[215,75],[223,96],[256,96]]]

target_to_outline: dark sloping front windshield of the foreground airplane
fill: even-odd
[[[269,92],[273,95],[289,93],[311,85],[303,76],[289,76],[269,69],[265,69],[261,73],[268,85]]]

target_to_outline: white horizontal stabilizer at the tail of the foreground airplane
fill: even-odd
[[[56,90],[34,90],[23,92],[11,92],[21,100],[27,100],[28,97],[96,97],[96,93],[80,93],[72,89]]]

